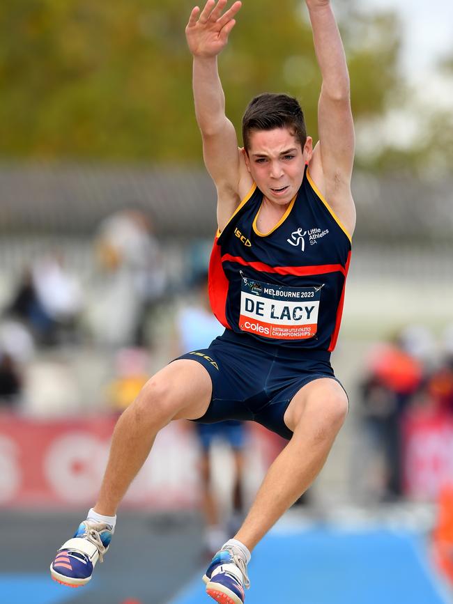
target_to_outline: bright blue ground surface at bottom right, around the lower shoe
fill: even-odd
[[[254,551],[249,578],[246,604],[450,602],[420,538],[384,529],[271,532]],[[210,601],[200,576],[171,604]]]

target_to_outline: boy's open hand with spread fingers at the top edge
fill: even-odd
[[[227,45],[228,36],[236,24],[234,15],[242,3],[236,1],[225,11],[228,0],[208,0],[200,13],[198,6],[190,13],[190,19],[185,28],[185,37],[193,56],[217,56]]]

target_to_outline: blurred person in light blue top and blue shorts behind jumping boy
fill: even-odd
[[[223,327],[213,316],[208,299],[207,274],[199,274],[193,283],[194,300],[176,316],[178,354],[199,350],[223,332]],[[206,522],[204,545],[206,555],[212,557],[222,543],[236,534],[243,522],[243,467],[245,425],[236,420],[220,421],[217,424],[192,424],[201,447],[200,474],[202,509]],[[231,516],[222,522],[222,510],[217,493],[213,488],[211,453],[213,445],[223,441],[231,450],[233,460],[233,488],[231,493]]]

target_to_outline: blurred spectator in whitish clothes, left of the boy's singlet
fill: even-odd
[[[91,316],[93,331],[117,346],[150,344],[148,323],[167,286],[150,219],[140,210],[107,217],[99,226],[95,252],[102,279]]]

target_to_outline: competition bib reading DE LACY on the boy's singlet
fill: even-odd
[[[312,338],[318,329],[322,287],[286,287],[243,277],[239,327],[277,340]]]

